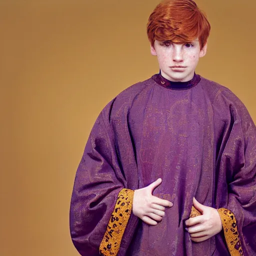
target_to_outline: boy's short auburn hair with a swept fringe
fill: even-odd
[[[198,37],[202,48],[210,33],[206,15],[193,0],[163,0],[148,18],[147,37],[154,41],[190,42]]]

